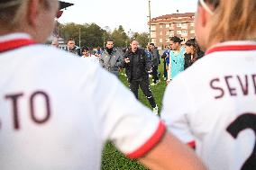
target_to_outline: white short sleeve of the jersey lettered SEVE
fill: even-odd
[[[161,118],[165,121],[168,130],[184,143],[191,147],[195,145],[189,117],[192,113],[191,98],[187,93],[187,87],[180,76],[170,82],[163,99]]]

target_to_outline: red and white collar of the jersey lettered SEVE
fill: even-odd
[[[227,51],[227,50],[256,50],[255,41],[229,41],[220,43],[208,50],[206,50],[206,55],[218,52],[218,51]]]

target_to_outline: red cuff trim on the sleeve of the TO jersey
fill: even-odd
[[[151,151],[151,148],[156,146],[160,139],[162,139],[163,135],[165,134],[166,127],[162,121],[160,121],[158,129],[155,131],[155,133],[151,136],[148,141],[146,141],[141,148],[138,148],[131,154],[127,154],[127,157],[129,158],[138,158],[145,156],[148,152]]]

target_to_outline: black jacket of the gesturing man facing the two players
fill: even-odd
[[[149,78],[149,71],[151,71],[151,60],[148,58],[144,49],[137,49],[133,53],[131,49],[124,53],[123,59],[129,58],[130,63],[123,62],[123,67],[128,78],[128,81],[141,81]]]

